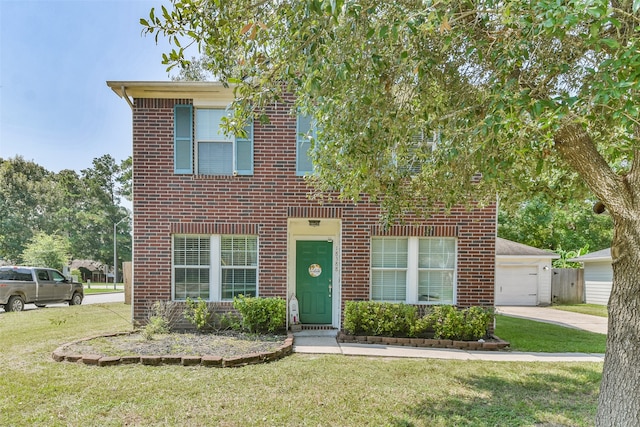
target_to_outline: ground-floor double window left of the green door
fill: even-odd
[[[174,300],[257,296],[256,236],[173,237]]]

